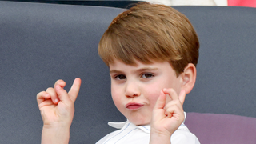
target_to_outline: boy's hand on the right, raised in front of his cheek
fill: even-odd
[[[171,101],[166,103],[166,97],[170,97]],[[158,136],[158,138],[167,138],[170,142],[170,136],[184,121],[185,116],[182,105],[185,101],[185,97],[185,90],[182,90],[179,96],[173,89],[161,90],[161,94],[154,106],[152,114],[152,138]],[[154,134],[154,136],[152,134]]]

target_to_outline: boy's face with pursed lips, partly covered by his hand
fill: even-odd
[[[181,76],[176,77],[169,62],[153,62],[137,66],[115,60],[110,64],[111,93],[118,110],[135,125],[150,124],[152,111],[160,91],[181,90]],[[167,97],[166,102],[170,102]]]

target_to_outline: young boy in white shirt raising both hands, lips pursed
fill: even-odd
[[[114,18],[98,54],[110,68],[111,94],[127,122],[102,143],[199,143],[183,124],[182,104],[194,87],[199,42],[189,20],[169,6],[140,3]],[[38,93],[42,143],[68,143],[81,80],[67,93],[58,80]]]

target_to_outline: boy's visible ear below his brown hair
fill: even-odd
[[[197,70],[194,64],[189,63],[184,72],[181,74],[182,77],[182,90],[186,90],[186,94],[189,94],[194,87],[194,83],[197,77]]]

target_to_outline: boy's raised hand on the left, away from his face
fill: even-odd
[[[58,80],[54,87],[49,87],[37,95],[38,107],[41,111],[44,128],[58,126],[70,127],[74,117],[74,102],[78,96],[81,79],[76,78],[70,91],[63,88],[66,82]]]

